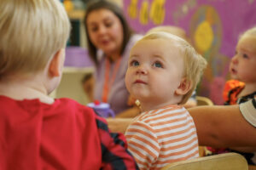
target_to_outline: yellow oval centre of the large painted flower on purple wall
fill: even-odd
[[[213,41],[213,31],[211,24],[204,20],[195,30],[195,46],[201,51],[206,52],[211,48]]]

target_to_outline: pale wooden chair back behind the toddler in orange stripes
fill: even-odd
[[[248,170],[248,165],[246,159],[240,154],[224,153],[177,161],[161,170]]]

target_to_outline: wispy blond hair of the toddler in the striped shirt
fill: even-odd
[[[204,69],[207,67],[207,60],[204,59],[201,54],[198,54],[195,51],[189,42],[183,40],[181,37],[177,37],[168,33],[166,31],[154,31],[149,32],[146,36],[144,36],[140,41],[147,40],[147,39],[166,39],[170,44],[177,47],[176,49],[181,54],[180,56],[183,57],[184,61],[184,71],[183,77],[189,81],[192,86],[191,89],[187,94],[183,95],[183,99],[178,104],[185,104],[193,91],[198,82],[200,82],[201,75]],[[173,49],[173,48],[172,48]],[[177,56],[177,57],[180,57]]]

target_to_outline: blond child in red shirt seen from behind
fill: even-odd
[[[59,0],[2,0],[0,11],[0,169],[136,169],[102,117],[48,95],[70,31]]]

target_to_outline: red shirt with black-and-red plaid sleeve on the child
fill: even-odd
[[[123,135],[72,99],[0,96],[0,169],[136,169]],[[115,167],[117,168],[117,167]],[[119,169],[119,168],[117,168]]]

